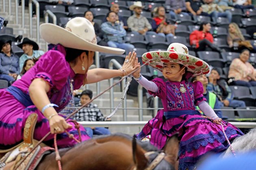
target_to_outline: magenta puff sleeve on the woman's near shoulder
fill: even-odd
[[[43,78],[49,83],[51,89],[62,89],[70,74],[69,64],[65,60],[65,55],[56,50],[46,52],[34,67],[35,77],[32,80]]]

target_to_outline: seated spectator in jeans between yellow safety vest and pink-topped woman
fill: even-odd
[[[217,97],[219,98],[220,106],[229,107],[244,107],[245,102],[241,100],[234,100],[231,89],[225,80],[220,79],[220,73],[217,69],[213,68],[209,75],[209,84],[207,89],[210,91],[215,91]]]

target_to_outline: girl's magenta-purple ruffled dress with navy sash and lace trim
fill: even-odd
[[[199,81],[164,82],[159,78],[153,81],[158,86],[158,91],[156,93],[149,91],[149,93],[161,98],[164,109],[158,111],[156,117],[148,121],[142,131],[137,134],[137,138],[151,134],[150,143],[162,149],[167,138],[178,132],[180,170],[194,169],[200,156],[209,151],[220,152],[228,148],[221,125],[201,117],[195,110],[195,105],[206,100],[203,97],[202,83]],[[228,122],[225,123],[227,126],[224,126],[224,129],[229,140],[243,135],[237,127]]]

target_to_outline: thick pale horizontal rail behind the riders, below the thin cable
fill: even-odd
[[[144,126],[148,121],[78,121],[84,127],[127,127],[127,126]],[[229,121],[232,125],[239,128],[254,128],[256,122],[235,122]]]

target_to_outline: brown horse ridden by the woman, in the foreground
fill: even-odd
[[[178,158],[178,144],[177,136],[171,138],[167,142],[164,155],[149,143],[124,134],[113,134],[60,149],[59,153],[63,170],[174,170]],[[163,159],[159,155],[164,155]],[[55,153],[43,157],[37,166],[37,170],[45,169],[58,169]]]

